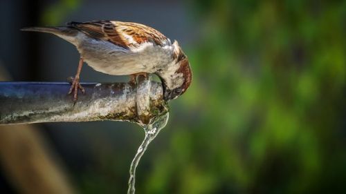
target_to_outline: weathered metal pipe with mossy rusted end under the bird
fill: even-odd
[[[129,121],[143,126],[168,111],[160,83],[145,77],[138,84],[82,83],[85,94],[67,92],[71,84],[0,82],[0,124]]]

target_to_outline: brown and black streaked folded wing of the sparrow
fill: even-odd
[[[122,21],[87,21],[67,23],[67,26],[84,32],[94,39],[102,39],[123,48],[138,47],[140,43],[151,42],[156,45],[170,42],[161,32],[140,23]]]

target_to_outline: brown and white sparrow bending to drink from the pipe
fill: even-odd
[[[77,100],[80,72],[86,62],[96,71],[109,75],[130,75],[136,83],[138,75],[156,74],[163,84],[166,101],[179,97],[189,88],[192,71],[188,57],[178,42],[154,28],[123,21],[86,21],[57,27],[30,27],[23,31],[47,32],[72,43],[80,52],[77,73],[69,94]]]

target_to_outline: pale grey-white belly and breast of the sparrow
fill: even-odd
[[[132,37],[125,38],[134,41]],[[173,60],[172,44],[156,46],[153,43],[142,43],[138,47],[126,49],[108,41],[91,39],[81,32],[75,41],[70,42],[78,48],[89,66],[109,75],[153,73],[160,68],[167,68]]]

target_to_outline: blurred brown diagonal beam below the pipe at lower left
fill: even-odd
[[[0,126],[3,172],[19,193],[76,193],[37,126]]]

